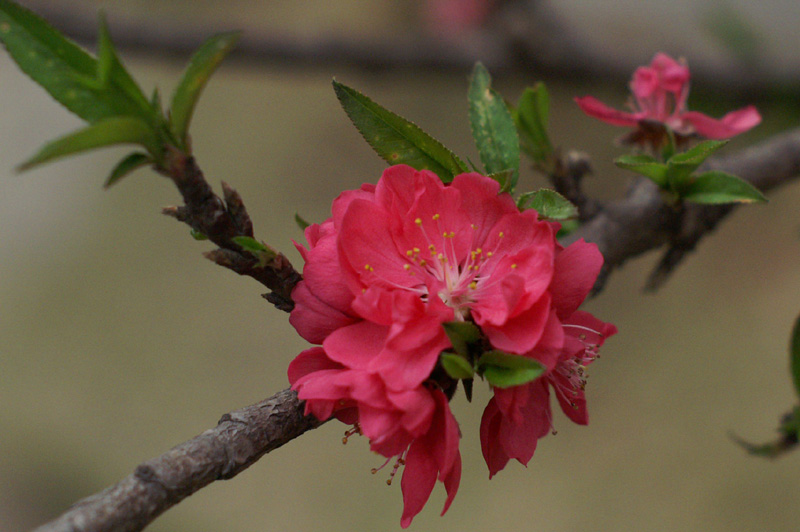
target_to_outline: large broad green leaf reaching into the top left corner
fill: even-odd
[[[108,48],[110,44],[104,44],[104,38],[107,34],[104,37],[101,32],[105,54],[101,69],[95,58],[39,16],[0,0],[0,41],[20,69],[59,103],[90,123],[111,116],[144,117],[141,101],[130,94],[138,87],[131,87],[132,80],[119,66],[113,48]],[[102,83],[104,76],[106,86]]]

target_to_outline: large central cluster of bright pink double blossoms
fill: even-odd
[[[290,321],[321,347],[291,363],[306,413],[335,416],[403,466],[403,527],[436,481],[447,510],[458,490],[458,381],[439,363],[453,348],[444,324],[468,322],[486,350],[536,360],[541,377],[495,387],[480,437],[490,475],[526,464],[552,428],[550,389],[587,422],[585,367],[613,325],[578,311],[600,271],[597,247],[561,247],[557,227],[520,212],[496,181],[462,174],[449,185],[398,165],[377,185],[342,193],[332,217],[306,229],[303,281]],[[391,479],[390,479],[391,481]]]

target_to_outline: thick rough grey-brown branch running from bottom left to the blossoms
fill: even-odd
[[[219,424],[140,464],[117,484],[76,502],[36,532],[133,532],[215,480],[321,425],[291,390],[222,416]]]

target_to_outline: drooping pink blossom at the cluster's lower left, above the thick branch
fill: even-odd
[[[405,464],[403,528],[425,506],[437,479],[447,491],[442,514],[447,511],[461,480],[461,454],[458,424],[441,390],[432,386],[391,390],[377,373],[348,369],[319,347],[292,361],[289,381],[306,401],[306,415],[313,413],[319,419],[335,415],[367,436],[370,449],[388,458],[386,463],[394,457],[392,477]]]

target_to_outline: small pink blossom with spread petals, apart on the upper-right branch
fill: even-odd
[[[591,117],[615,126],[638,128],[628,137],[628,142],[649,143],[654,147],[658,145],[653,142],[652,125],[648,127],[647,122],[663,124],[679,137],[697,134],[709,139],[727,139],[761,122],[761,115],[752,105],[732,111],[721,119],[687,111],[689,68],[664,53],[656,54],[650,66],[636,69],[630,89],[634,99],[631,113],[612,109],[592,96],[575,98],[575,102]],[[663,138],[657,140],[663,141]]]

